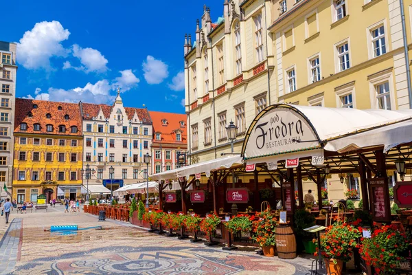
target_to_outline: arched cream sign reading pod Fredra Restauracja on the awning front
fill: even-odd
[[[249,130],[244,153],[248,158],[318,147],[312,126],[295,109],[274,107]]]

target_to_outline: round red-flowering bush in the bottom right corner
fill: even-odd
[[[408,245],[407,234],[396,225],[383,225],[372,232],[371,238],[363,239],[359,252],[367,265],[374,266],[376,274],[392,274],[404,260],[402,253]]]

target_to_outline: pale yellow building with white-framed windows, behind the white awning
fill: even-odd
[[[411,81],[404,43],[411,43],[412,1],[273,1],[273,39],[279,102],[358,109],[409,109]],[[407,53],[408,54],[408,53]],[[410,53],[409,53],[410,54]],[[393,178],[393,171],[389,173]],[[329,199],[359,190],[358,175],[325,181]],[[311,182],[311,181],[308,181]],[[312,183],[304,189],[316,189]]]

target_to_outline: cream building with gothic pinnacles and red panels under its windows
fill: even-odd
[[[250,2],[250,3],[249,3]],[[225,126],[238,126],[234,151],[268,104],[277,102],[273,64],[268,63],[267,1],[225,1],[216,23],[203,8],[194,43],[185,39],[185,105],[190,163],[229,153]]]

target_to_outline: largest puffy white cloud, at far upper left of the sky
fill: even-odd
[[[18,62],[26,69],[52,69],[52,56],[67,56],[68,51],[60,43],[69,35],[58,21],[36,23],[17,43]]]

